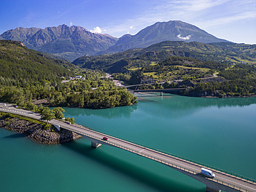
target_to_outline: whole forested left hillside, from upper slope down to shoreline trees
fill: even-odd
[[[0,41],[0,101],[35,111],[35,104],[86,108],[111,108],[135,104],[136,97],[118,88],[104,73],[80,70],[30,50],[20,41]],[[75,79],[62,83],[61,77]]]

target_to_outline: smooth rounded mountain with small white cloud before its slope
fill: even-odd
[[[136,35],[123,35],[114,46],[99,54],[121,52],[131,48],[145,48],[162,41],[197,41],[204,44],[228,42],[183,21],[157,22],[140,30]]]

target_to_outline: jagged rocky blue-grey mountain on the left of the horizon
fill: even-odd
[[[21,41],[28,48],[48,52],[73,61],[84,55],[94,55],[116,44],[111,35],[89,32],[80,26],[66,25],[41,28],[15,28],[0,35],[0,39]]]

